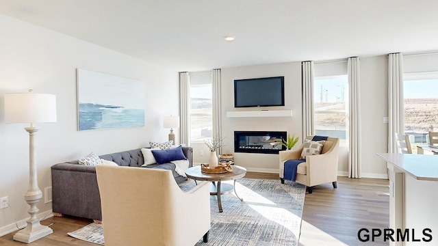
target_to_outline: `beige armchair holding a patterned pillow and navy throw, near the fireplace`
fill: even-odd
[[[311,140],[313,136],[307,136]],[[284,184],[285,161],[300,159],[302,146],[296,150],[283,150],[280,156],[280,179]],[[324,143],[321,154],[306,156],[306,161],[300,163],[297,168],[296,182],[305,184],[307,191],[312,193],[313,187],[318,184],[332,182],[333,188],[337,188],[337,165],[339,161],[339,139],[329,137]]]

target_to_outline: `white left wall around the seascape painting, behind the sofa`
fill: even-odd
[[[179,114],[179,83],[177,71],[7,16],[0,15],[0,33],[0,197],[8,196],[10,204],[0,210],[1,235],[16,230],[15,220],[29,217],[23,199],[29,177],[29,136],[24,130],[28,125],[4,123],[4,94],[33,89],[57,96],[57,122],[38,124],[36,135],[38,184],[44,194],[55,163],[166,141],[162,116]],[[146,126],[77,131],[76,68],[144,81]],[[43,197],[38,208],[40,213],[50,211],[51,203],[44,204]]]

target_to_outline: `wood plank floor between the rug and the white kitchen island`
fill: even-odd
[[[278,174],[248,173],[246,177],[279,179]],[[368,243],[357,238],[361,228],[388,227],[388,185],[389,180],[383,179],[338,177],[337,189],[331,183],[314,187],[305,197],[300,246],[389,245],[382,238]]]

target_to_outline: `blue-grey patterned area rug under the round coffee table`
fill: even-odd
[[[182,182],[180,187],[188,191],[194,181]],[[298,245],[301,228],[305,186],[280,180],[242,178],[236,181],[235,193],[222,195],[223,213],[219,213],[216,196],[210,197],[211,229],[208,243],[202,238],[201,245]],[[91,223],[70,236],[103,245],[103,228]]]

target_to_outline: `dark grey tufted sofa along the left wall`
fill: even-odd
[[[183,154],[192,167],[192,148],[183,146]],[[107,161],[114,161],[120,166],[140,167],[144,164],[140,148],[104,154],[99,156]],[[151,164],[144,168],[170,169],[177,183],[187,180],[175,172],[175,164]],[[52,200],[55,215],[72,215],[86,219],[102,220],[101,197],[96,180],[96,167],[79,165],[79,162],[68,161],[51,167]],[[141,185],[141,184],[139,184]]]

